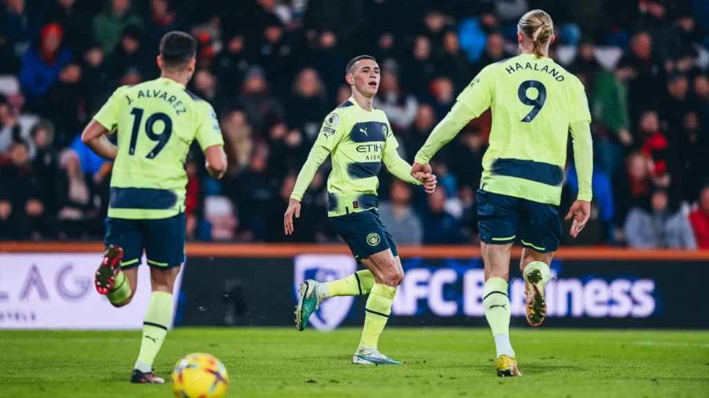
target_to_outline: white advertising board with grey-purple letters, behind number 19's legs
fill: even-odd
[[[142,329],[150,302],[150,268],[138,269],[133,301],[114,308],[94,288],[101,258],[102,254],[0,253],[0,329]]]

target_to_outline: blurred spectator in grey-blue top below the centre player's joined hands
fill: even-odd
[[[379,213],[394,241],[412,245],[423,243],[423,227],[411,207],[411,188],[407,183],[392,179],[389,201],[379,204]]]

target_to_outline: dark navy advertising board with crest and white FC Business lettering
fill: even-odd
[[[185,325],[293,326],[298,285],[357,269],[351,256],[191,257],[182,290]],[[406,276],[392,306],[392,326],[486,326],[479,258],[402,258]],[[703,261],[556,260],[547,285],[546,327],[707,329],[692,303],[709,277]],[[673,276],[675,275],[675,276]],[[687,275],[676,279],[676,275]],[[512,326],[526,326],[524,283],[510,264]],[[335,297],[311,326],[361,326],[367,297]],[[690,305],[688,305],[690,304]]]

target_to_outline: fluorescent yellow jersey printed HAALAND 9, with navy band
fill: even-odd
[[[591,123],[581,81],[549,57],[522,54],[485,67],[457,101],[469,110],[467,120],[492,110],[490,146],[483,157],[480,188],[559,205],[569,126],[580,121]],[[416,161],[428,163],[447,142],[442,141],[456,133],[432,135]],[[579,192],[580,200],[591,200],[588,188]]]

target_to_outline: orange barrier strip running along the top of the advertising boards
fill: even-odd
[[[190,256],[216,257],[292,257],[298,254],[350,254],[347,246],[340,244],[219,244],[188,243]],[[0,242],[0,253],[100,253],[104,244],[79,242]],[[403,257],[471,258],[480,256],[477,246],[399,246]],[[519,257],[522,249],[513,249]],[[557,258],[570,260],[664,260],[708,261],[709,250],[635,250],[605,247],[562,247]]]

